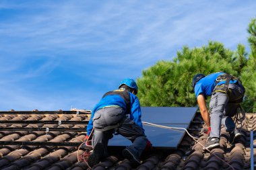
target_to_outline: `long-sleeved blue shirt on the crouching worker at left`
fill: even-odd
[[[131,110],[128,111],[128,113],[130,114],[130,119],[133,120],[135,122],[135,124],[140,126],[141,129],[144,131],[142,122],[141,122],[141,108],[140,108],[140,104],[139,104],[139,99],[133,93],[129,92],[129,95],[130,95],[130,102],[131,102]],[[91,115],[90,121],[87,126],[88,136],[89,136],[90,132],[92,132],[92,128],[93,128],[92,118],[94,117],[95,112],[97,110],[99,110],[100,108],[104,108],[109,105],[119,105],[119,107],[126,110],[125,100],[120,95],[106,95],[106,97],[103,97],[100,100],[100,102],[97,103],[95,105],[94,109],[92,110],[92,115]]]

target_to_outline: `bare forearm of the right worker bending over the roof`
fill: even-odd
[[[207,127],[210,127],[210,116],[207,111],[205,98],[202,94],[199,94],[197,96],[197,103],[199,105],[199,110],[200,110],[201,116],[203,117],[203,121],[205,122]]]

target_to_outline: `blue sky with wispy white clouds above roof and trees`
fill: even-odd
[[[255,1],[0,1],[0,110],[92,110],[184,45],[247,43]]]

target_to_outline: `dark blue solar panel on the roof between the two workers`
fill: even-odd
[[[141,120],[143,122],[177,128],[188,128],[191,120],[195,116],[195,112],[197,112],[197,108],[142,107],[141,112]],[[185,134],[185,130],[178,132],[177,130],[148,125],[143,125],[143,128],[153,146],[158,148],[177,148]],[[127,140],[121,135],[114,135],[108,142],[109,146],[129,146],[130,144],[130,140]]]

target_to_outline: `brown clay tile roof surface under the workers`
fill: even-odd
[[[0,145],[0,169],[88,169],[85,162],[77,162],[77,144],[83,142],[86,136],[89,118],[90,112],[0,112],[0,143],[3,144]],[[30,122],[22,124],[19,121]],[[75,122],[65,124],[65,121]],[[201,138],[198,140],[201,144],[205,144],[207,139],[204,137],[207,136],[201,132],[202,122],[200,114],[196,113],[188,130],[193,136]],[[62,131],[55,131],[60,128]],[[80,130],[75,131],[75,128]],[[220,147],[212,150],[214,154],[204,151],[199,143],[185,134],[178,149],[153,148],[149,153],[143,153],[141,165],[135,169],[219,170],[231,169],[229,165],[234,169],[250,169],[250,130],[256,128],[256,115],[247,114],[244,124],[238,125],[238,128],[241,128],[243,137],[231,145],[228,142],[229,134],[222,127]],[[15,145],[10,144],[12,141],[16,142]],[[28,145],[29,142],[34,142],[34,146]],[[92,169],[132,169],[130,162],[121,156],[121,149],[109,147],[110,156]],[[82,155],[84,148],[78,152]]]

